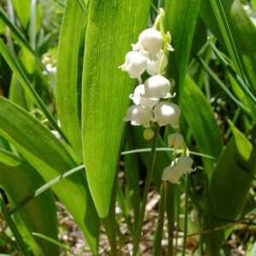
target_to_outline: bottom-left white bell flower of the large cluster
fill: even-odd
[[[152,117],[153,113],[148,108],[143,108],[140,105],[132,105],[127,109],[124,121],[131,121],[131,125],[143,125],[148,128]]]

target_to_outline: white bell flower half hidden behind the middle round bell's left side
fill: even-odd
[[[135,88],[134,93],[130,95],[135,105],[142,105],[143,108],[151,109],[160,101],[159,98],[145,98],[142,96],[144,93],[144,84],[140,84]]]

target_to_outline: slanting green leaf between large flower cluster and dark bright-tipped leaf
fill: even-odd
[[[218,159],[224,147],[218,124],[211,106],[198,86],[187,76],[184,90],[180,96],[182,114],[189,123],[195,142],[201,154],[208,154]],[[203,158],[208,177],[212,176],[214,161]]]

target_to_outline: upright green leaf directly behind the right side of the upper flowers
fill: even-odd
[[[167,74],[175,79],[178,90],[184,86],[185,75],[189,64],[190,49],[195,31],[199,0],[166,1],[165,28],[172,35],[170,65]],[[179,93],[177,94],[179,97]]]

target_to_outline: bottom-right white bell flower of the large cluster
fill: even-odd
[[[179,125],[181,110],[175,103],[159,102],[154,107],[154,121],[160,126],[171,124],[173,128]]]

